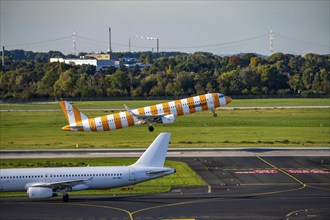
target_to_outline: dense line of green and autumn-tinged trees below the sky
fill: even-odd
[[[221,57],[205,52],[118,53],[119,57],[135,57],[151,66],[111,67],[96,72],[90,65],[50,63],[50,57],[64,57],[56,51],[42,54],[20,51],[19,56],[11,53],[15,55],[6,56],[5,66],[1,66],[1,100],[179,97],[205,92],[307,97],[328,96],[330,90],[329,55],[275,53],[262,57],[247,53]]]

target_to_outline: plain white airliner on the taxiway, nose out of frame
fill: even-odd
[[[164,167],[171,133],[161,133],[148,149],[130,166],[56,167],[0,169],[0,191],[27,191],[30,199],[46,199],[67,192],[109,189],[133,185],[175,173]]]

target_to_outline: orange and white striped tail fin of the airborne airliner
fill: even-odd
[[[62,101],[60,102],[60,106],[70,125],[81,124],[83,120],[88,118],[84,113],[80,112],[70,102]]]

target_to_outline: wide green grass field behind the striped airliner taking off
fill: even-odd
[[[327,106],[328,99],[234,100],[229,106]],[[103,108],[132,107],[157,101],[101,102]],[[149,103],[152,102],[152,103]],[[92,104],[91,104],[92,103]],[[116,103],[116,104],[113,104]],[[244,104],[245,103],[245,104]],[[265,104],[266,103],[266,104]],[[78,105],[79,104],[79,105]],[[106,105],[107,104],[107,105]],[[111,106],[110,106],[111,105]],[[8,108],[11,105],[1,105]],[[16,106],[16,105],[15,105]],[[30,105],[19,105],[28,108]],[[34,105],[43,106],[43,105]],[[58,104],[52,108],[59,109]],[[101,107],[98,102],[78,102],[79,108]],[[37,108],[36,107],[36,108]],[[48,107],[49,108],[49,107]],[[95,117],[111,111],[84,111]],[[70,149],[147,147],[160,132],[171,132],[170,147],[325,147],[329,146],[329,108],[326,109],[235,109],[217,110],[218,117],[207,111],[178,117],[174,124],[154,124],[150,133],[146,125],[110,132],[63,132],[67,125],[61,111],[2,111],[1,149]]]

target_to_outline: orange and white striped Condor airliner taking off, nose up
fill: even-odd
[[[175,122],[175,117],[196,112],[211,110],[216,117],[215,109],[231,102],[231,98],[221,93],[208,93],[190,98],[165,102],[162,104],[146,106],[138,109],[96,118],[88,118],[75,108],[70,102],[62,101],[60,106],[69,125],[63,131],[111,131],[134,125],[149,124],[149,131],[154,131],[153,123],[170,124]]]

